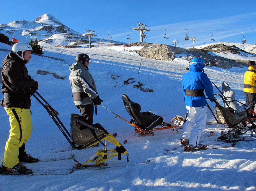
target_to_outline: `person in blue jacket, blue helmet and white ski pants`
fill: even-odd
[[[205,73],[203,73],[205,61],[202,58],[191,60],[189,71],[182,76],[183,100],[187,109],[187,121],[184,124],[182,143],[188,143],[187,150],[205,148],[200,143],[200,135],[206,126],[207,110],[206,97],[215,100],[213,86]]]

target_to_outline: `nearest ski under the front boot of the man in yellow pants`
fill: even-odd
[[[0,175],[29,175],[29,176],[37,176],[37,175],[68,175],[73,172],[73,169],[57,169],[57,170],[42,170],[42,171],[35,171],[35,172],[28,172],[20,174],[18,172],[2,172],[0,171]]]

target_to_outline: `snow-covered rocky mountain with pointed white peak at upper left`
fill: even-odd
[[[13,21],[9,24],[0,24],[0,33],[8,36],[10,41],[13,37],[19,42],[29,42],[30,38],[32,40],[37,38],[40,41],[39,44],[42,46],[58,46],[58,44],[66,46],[70,41],[70,45],[84,47],[83,43],[89,43],[87,36],[82,36],[82,33],[70,29],[50,14],[43,14],[32,22],[22,20]],[[109,39],[92,38],[92,42],[94,43],[97,43],[98,40],[101,46],[123,44],[123,42],[116,42]]]

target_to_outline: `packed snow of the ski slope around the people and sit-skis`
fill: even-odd
[[[188,67],[188,61],[176,56],[170,61],[159,61],[142,58],[130,50],[135,47],[101,46],[93,48],[46,47],[43,55],[32,54],[27,68],[30,76],[38,81],[38,92],[60,114],[59,118],[70,130],[70,114],[79,110],[74,105],[69,83],[69,66],[75,62],[79,53],[90,56],[89,72],[96,82],[103,106],[126,120],[131,118],[122,101],[126,94],[133,102],[141,105],[141,111],[151,110],[157,115],[165,114],[165,122],[169,123],[175,115],[185,117],[186,109],[183,101],[181,80]],[[11,46],[0,43],[0,60],[10,52]],[[61,53],[61,54],[60,54]],[[182,55],[181,55],[182,56]],[[192,55],[191,55],[192,56]],[[229,55],[231,56],[231,55]],[[141,66],[140,66],[141,64]],[[139,70],[140,67],[140,70]],[[37,71],[48,71],[47,75],[38,75]],[[139,73],[138,73],[139,70]],[[219,88],[223,81],[227,82],[236,93],[236,99],[245,103],[243,93],[243,75],[246,67],[223,69],[205,67],[204,72]],[[54,78],[55,73],[61,78]],[[111,78],[113,77],[113,78]],[[115,78],[115,79],[114,79]],[[128,78],[134,78],[132,84],[124,85]],[[143,88],[153,92],[143,92],[133,85],[142,83]],[[218,93],[214,88],[214,92]],[[0,95],[0,99],[3,94]],[[52,149],[71,148],[66,138],[50,118],[40,103],[31,97],[32,124],[31,138],[26,143],[28,154],[39,159],[64,157],[74,153],[74,159],[84,163],[103,146],[83,150],[70,150],[53,153]],[[209,103],[213,109],[213,103]],[[176,134],[172,130],[154,131],[154,136],[139,136],[134,127],[108,110],[98,106],[98,115],[94,115],[94,123],[100,123],[110,133],[117,133],[116,139],[123,144],[129,153],[126,157],[111,158],[108,165],[125,165],[150,160],[149,164],[129,167],[113,167],[104,170],[80,170],[69,175],[8,176],[0,175],[0,190],[256,190],[256,141],[237,142],[233,148],[182,152],[180,147],[170,155],[164,155],[165,148],[179,146],[182,129]],[[4,157],[4,147],[9,137],[9,119],[4,108],[0,110],[0,158]],[[208,121],[214,121],[208,110]],[[208,145],[218,144],[217,138],[221,130],[228,130],[221,125],[206,125],[202,136],[213,131],[214,135],[202,139]],[[250,135],[246,133],[245,135]],[[108,149],[115,145],[108,143]],[[1,162],[1,161],[0,161]],[[25,164],[34,171],[55,168],[72,168],[73,159]]]

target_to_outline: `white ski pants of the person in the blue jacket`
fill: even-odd
[[[189,139],[189,144],[198,146],[200,135],[206,126],[207,109],[206,106],[187,106],[187,121],[183,127],[183,139]]]

